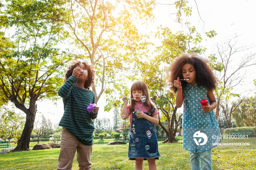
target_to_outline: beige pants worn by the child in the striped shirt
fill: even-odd
[[[71,170],[76,151],[79,170],[91,170],[90,159],[93,146],[82,144],[73,134],[63,127],[59,163],[57,165],[58,170]]]

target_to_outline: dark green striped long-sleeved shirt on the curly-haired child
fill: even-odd
[[[98,113],[87,111],[90,103],[95,103],[95,95],[91,90],[85,90],[74,86],[78,80],[70,76],[58,91],[63,98],[64,114],[59,125],[65,127],[71,134],[84,145],[93,144],[94,123]]]

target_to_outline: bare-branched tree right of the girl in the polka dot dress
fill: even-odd
[[[231,114],[241,104],[231,106],[230,112],[227,112],[229,101],[232,97],[240,97],[241,95],[234,91],[238,85],[242,85],[246,78],[246,72],[243,72],[243,68],[256,65],[255,53],[247,52],[252,47],[245,47],[240,45],[237,36],[228,39],[226,42],[217,44],[216,54],[212,55],[217,58],[217,61],[221,64],[221,72],[218,74],[220,81],[215,94],[217,96],[217,108],[215,116],[218,119],[220,109],[225,113],[225,117],[228,123],[228,127],[231,127]]]

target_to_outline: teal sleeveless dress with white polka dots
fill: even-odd
[[[183,95],[183,148],[192,152],[203,152],[217,146],[221,139],[214,111],[204,113],[200,104],[203,98],[210,104],[207,88],[187,84],[183,88]]]

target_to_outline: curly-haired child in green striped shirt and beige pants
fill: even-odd
[[[59,125],[63,127],[58,170],[71,170],[77,151],[79,169],[91,170],[93,131],[99,107],[87,111],[90,103],[95,103],[94,92],[89,90],[94,84],[94,67],[88,62],[74,61],[68,66],[59,96],[63,98],[64,114]]]

